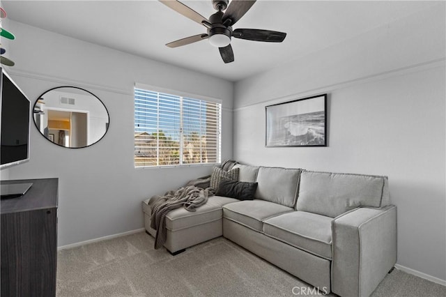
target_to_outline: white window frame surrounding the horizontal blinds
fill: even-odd
[[[187,99],[192,99],[192,100],[202,100],[205,102],[211,102],[211,103],[215,103],[220,105],[219,110],[218,110],[218,123],[217,123],[217,137],[216,137],[216,141],[217,141],[217,145],[215,146],[216,150],[217,150],[217,154],[216,154],[216,162],[207,162],[207,163],[182,163],[183,162],[183,148],[184,148],[184,142],[182,140],[179,141],[180,143],[180,164],[174,164],[174,165],[143,165],[143,166],[137,166],[136,162],[135,162],[135,153],[133,153],[133,167],[134,169],[151,169],[151,168],[169,168],[169,167],[194,167],[194,166],[212,166],[212,165],[219,165],[221,163],[222,160],[222,111],[223,111],[223,106],[222,106],[222,100],[217,99],[217,98],[212,98],[212,97],[208,97],[208,96],[201,96],[201,95],[197,95],[197,94],[193,94],[193,93],[187,93],[187,92],[183,92],[183,91],[177,91],[177,90],[172,90],[172,89],[164,89],[158,86],[151,86],[148,84],[140,84],[140,83],[135,83],[134,84],[134,88],[133,88],[133,132],[134,132],[134,137],[133,137],[133,144],[134,144],[134,148],[136,146],[135,143],[135,135],[136,135],[136,125],[137,125],[137,121],[136,121],[136,101],[135,101],[135,95],[136,95],[136,89],[142,89],[144,91],[149,91],[149,92],[155,92],[155,93],[163,93],[166,95],[170,95],[170,96],[178,96],[180,98],[187,98]],[[183,105],[181,107],[181,109],[183,109]],[[159,111],[158,111],[159,112]],[[183,112],[181,112],[181,122],[183,122]],[[182,127],[183,128],[183,127]],[[180,129],[181,130],[181,129]],[[183,135],[183,131],[181,131],[181,135]],[[183,135],[184,136],[184,135]],[[184,139],[184,138],[183,138]],[[159,151],[159,146],[157,147],[157,151]],[[157,160],[159,160],[159,155],[157,154]]]

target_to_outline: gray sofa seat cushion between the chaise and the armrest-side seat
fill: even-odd
[[[261,232],[263,221],[293,208],[260,199],[238,201],[223,206],[223,217]]]

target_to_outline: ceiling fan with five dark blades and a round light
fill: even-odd
[[[262,29],[232,29],[233,24],[236,24],[245,13],[256,2],[247,0],[232,0],[229,3],[228,0],[211,0],[217,13],[214,13],[209,17],[203,17],[192,8],[186,6],[180,1],[160,0],[164,5],[175,10],[176,12],[188,17],[190,20],[202,24],[208,31],[183,39],[167,43],[168,47],[180,47],[183,45],[189,45],[190,43],[196,43],[197,41],[208,39],[209,43],[214,47],[218,47],[220,55],[224,63],[231,63],[234,61],[234,54],[231,47],[231,37],[264,41],[268,43],[282,43],[286,37],[286,33],[262,30]],[[229,3],[229,6],[228,6]],[[226,9],[227,8],[227,9]],[[223,12],[223,10],[226,10]]]

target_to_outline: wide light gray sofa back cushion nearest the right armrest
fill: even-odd
[[[302,171],[295,209],[335,218],[360,206],[389,204],[387,177]]]

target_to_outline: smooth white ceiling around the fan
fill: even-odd
[[[284,31],[283,43],[233,38],[235,61],[224,64],[207,40],[165,44],[206,28],[158,1],[8,1],[8,18],[122,52],[238,81],[435,5],[426,1],[259,0],[234,26]],[[183,1],[204,17],[210,0]]]

